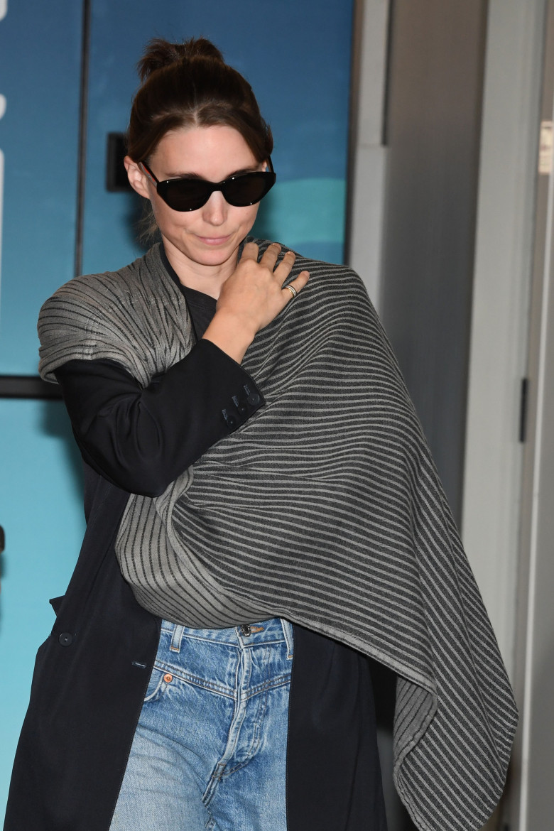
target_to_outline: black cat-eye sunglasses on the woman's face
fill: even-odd
[[[141,161],[140,164],[155,183],[159,196],[173,210],[198,210],[208,202],[214,190],[221,190],[228,204],[235,208],[246,208],[263,199],[277,178],[271,159],[267,160],[269,170],[229,176],[223,182],[208,182],[206,179],[166,179],[160,182],[146,162]]]

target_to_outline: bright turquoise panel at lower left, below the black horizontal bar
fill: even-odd
[[[81,462],[61,401],[0,399],[0,817],[37,648],[54,622],[84,533]]]

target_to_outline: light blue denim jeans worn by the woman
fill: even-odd
[[[286,831],[292,626],[162,622],[110,831]]]

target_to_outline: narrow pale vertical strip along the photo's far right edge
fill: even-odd
[[[554,2],[547,0],[546,6],[541,119],[552,130]],[[513,754],[510,806],[511,825],[517,831],[551,828],[554,815],[554,172],[552,143],[543,137],[540,157],[527,368],[529,430],[523,460],[517,586],[515,676],[521,729]]]

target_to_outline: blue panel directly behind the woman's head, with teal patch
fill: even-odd
[[[351,2],[94,0],[83,270],[119,268],[141,253],[130,224],[137,198],[107,194],[104,180],[105,137],[126,129],[142,48],[154,35],[199,34],[248,78],[272,125],[277,185],[257,233],[341,262]]]

